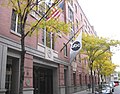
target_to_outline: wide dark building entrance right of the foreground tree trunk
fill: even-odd
[[[53,71],[52,69],[33,67],[34,94],[53,94]]]

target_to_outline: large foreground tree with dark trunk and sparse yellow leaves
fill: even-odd
[[[8,0],[2,1],[4,5],[10,6],[18,15],[18,24],[20,27],[21,40],[21,66],[20,66],[20,89],[19,94],[23,94],[24,81],[24,58],[25,58],[25,38],[32,35],[33,32],[39,31],[40,28],[45,28],[49,32],[62,31],[68,32],[68,24],[60,22],[56,19],[47,20],[51,14],[52,8],[57,6],[61,0],[53,0],[51,4],[45,3],[45,0]],[[6,4],[7,3],[7,4]],[[31,13],[37,15],[32,23],[29,21]]]

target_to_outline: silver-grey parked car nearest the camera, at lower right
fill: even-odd
[[[109,84],[103,84],[101,89],[95,90],[95,94],[113,94],[113,92]]]

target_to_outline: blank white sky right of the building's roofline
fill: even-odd
[[[120,40],[120,0],[78,0],[98,36]],[[114,48],[112,62],[120,65],[120,50]],[[120,67],[116,69],[120,71]]]

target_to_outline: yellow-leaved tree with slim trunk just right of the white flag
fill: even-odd
[[[105,52],[110,51],[111,46],[116,46],[117,44],[120,44],[117,40],[109,40],[83,33],[81,53],[86,54],[88,58],[88,66],[91,71],[92,93],[94,93],[94,79],[92,72],[94,61]]]

